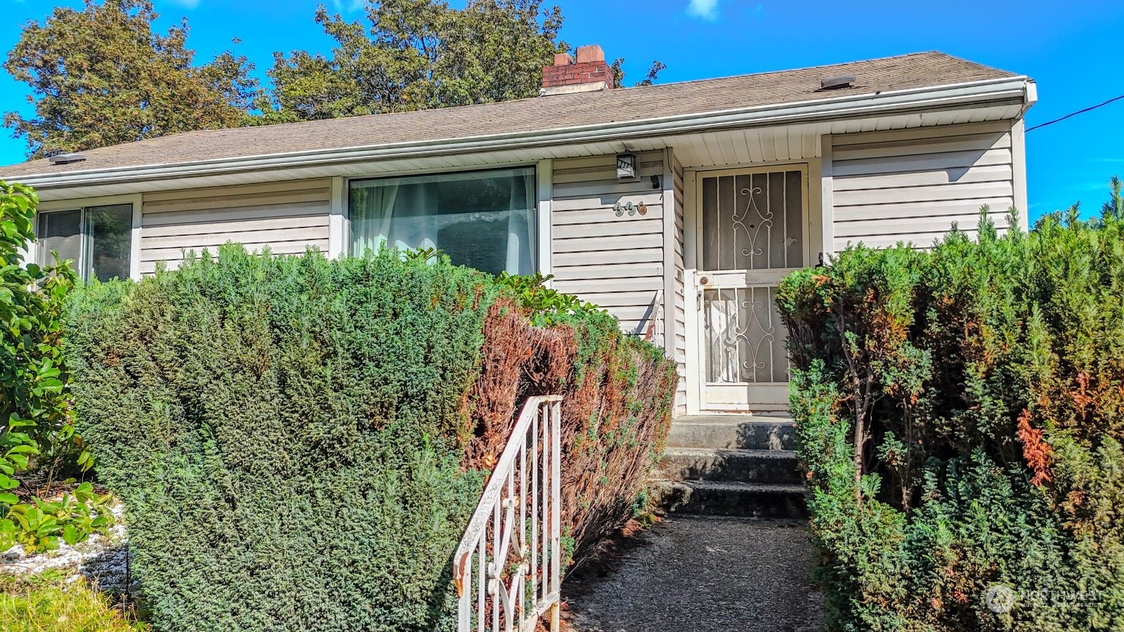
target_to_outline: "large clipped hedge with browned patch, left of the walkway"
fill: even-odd
[[[646,437],[667,432],[674,380],[627,387],[667,373],[658,351],[600,312],[551,328],[532,317],[487,274],[390,252],[227,245],[80,292],[80,427],[126,507],[154,628],[455,629],[452,553],[525,397],[563,391],[572,406],[575,376],[625,382],[563,418],[593,444],[582,454],[614,463],[651,463]],[[609,417],[643,427],[591,427]],[[568,511],[571,538],[627,517],[646,470],[622,473],[587,513]]]

